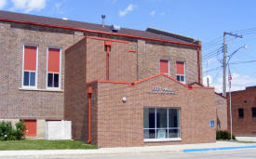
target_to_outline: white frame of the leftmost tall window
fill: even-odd
[[[25,46],[36,46],[36,71],[25,71],[24,70],[24,55],[25,55]],[[35,73],[35,79],[34,79],[34,86],[24,86],[24,72],[33,72]],[[23,45],[23,53],[22,53],[22,88],[37,88],[37,72],[38,72],[38,45],[29,45],[29,44],[24,44]],[[30,82],[29,82],[30,83]]]

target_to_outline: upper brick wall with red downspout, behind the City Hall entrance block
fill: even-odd
[[[87,40],[87,82],[106,79],[104,41],[93,38]],[[137,55],[128,52],[128,46],[128,43],[112,42],[109,55],[109,80],[128,82],[137,80]]]

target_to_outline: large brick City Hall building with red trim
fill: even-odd
[[[215,141],[225,99],[201,85],[194,38],[6,11],[0,35],[0,119],[25,120],[27,137],[70,120],[100,147]]]

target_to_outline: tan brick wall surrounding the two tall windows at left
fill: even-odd
[[[63,119],[64,50],[83,37],[83,33],[9,22],[0,22],[0,27],[0,118]],[[38,46],[35,90],[21,88],[24,44]],[[47,90],[47,46],[61,47],[62,50],[61,91]]]

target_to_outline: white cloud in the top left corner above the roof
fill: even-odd
[[[46,0],[11,0],[13,3],[12,9],[24,10],[30,12],[33,10],[41,10],[46,7]]]

